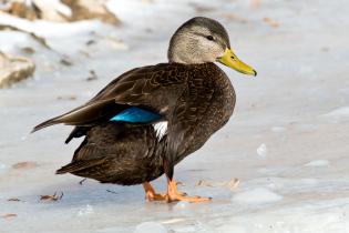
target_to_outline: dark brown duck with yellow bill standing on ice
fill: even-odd
[[[83,136],[72,161],[57,174],[142,184],[148,201],[211,200],[178,191],[174,168],[233,114],[234,88],[215,62],[252,77],[257,72],[235,55],[226,29],[205,17],[194,17],[175,31],[167,58],[121,74],[86,103],[33,128],[72,125],[65,143]],[[157,193],[151,182],[163,174],[167,186]]]

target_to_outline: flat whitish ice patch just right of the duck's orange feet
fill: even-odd
[[[277,202],[280,201],[281,199],[283,199],[281,195],[274,193],[265,188],[257,188],[246,192],[240,192],[233,196],[234,202],[242,202],[247,204]]]

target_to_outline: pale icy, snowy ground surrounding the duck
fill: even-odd
[[[109,7],[121,27],[0,17],[54,50],[21,32],[0,32],[0,50],[22,54],[31,47],[38,65],[33,79],[0,91],[0,232],[349,232],[346,0],[115,0]],[[225,69],[237,92],[235,114],[175,170],[183,191],[213,201],[147,203],[140,185],[80,185],[78,176],[54,175],[79,140],[63,144],[69,126],[29,134],[32,126],[131,68],[165,61],[171,34],[194,16],[218,19],[236,53],[258,71],[250,79]],[[61,64],[62,57],[73,64]],[[234,178],[240,182],[230,189]],[[165,180],[154,185],[162,191]],[[64,195],[40,201],[54,192]]]

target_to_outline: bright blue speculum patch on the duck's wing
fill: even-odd
[[[152,121],[156,121],[161,118],[160,114],[140,109],[136,107],[131,107],[129,109],[125,109],[121,112],[119,112],[116,115],[110,119],[110,121],[123,121],[123,122],[130,122],[130,123],[148,123]]]

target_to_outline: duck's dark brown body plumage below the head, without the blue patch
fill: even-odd
[[[170,166],[166,169],[168,169],[168,176],[171,176],[174,164],[201,148],[213,132],[227,122],[233,113],[235,104],[234,89],[224,72],[214,63],[195,65],[157,64],[151,69],[153,74],[142,72],[148,69],[146,67],[134,71],[144,74],[143,78],[135,74],[141,79],[142,84],[137,84],[132,79],[131,83],[133,85],[130,88],[125,84],[129,82],[121,79],[119,82],[112,82],[107,85],[94,101],[90,101],[82,107],[83,116],[85,118],[80,119],[79,111],[76,118],[74,113],[69,113],[69,120],[63,123],[71,124],[71,122],[74,122],[75,125],[81,125],[81,131],[86,128],[89,130],[86,130],[86,138],[82,145],[75,151],[72,163],[63,166],[58,173],[71,172],[102,182],[129,185],[158,178],[163,174],[164,161],[166,161]],[[177,79],[175,73],[182,73],[178,75],[182,78]],[[132,72],[130,77],[134,78]],[[127,88],[120,91],[119,85]],[[109,111],[105,111],[109,109],[104,107],[95,109],[95,101],[115,100],[119,93],[127,91],[130,93],[124,95],[127,97],[127,100],[123,99],[125,102],[122,101],[122,103],[142,105],[158,111],[164,119],[168,119],[167,128],[171,131],[168,130],[163,140],[157,141],[151,124],[132,125],[121,122],[106,122],[95,123],[94,126],[83,126],[89,125],[89,122],[103,122],[102,120],[95,121],[97,116],[101,119],[105,119],[105,115],[111,116]],[[135,92],[138,91],[143,93],[136,94]],[[178,100],[173,101],[174,98],[170,98],[171,92],[179,97]],[[111,102],[114,108],[110,109],[125,108],[120,105],[120,102]],[[91,108],[92,113],[88,111],[90,104],[93,107]],[[61,121],[61,119],[58,120]],[[101,163],[102,159],[103,162]],[[153,163],[146,163],[146,160]],[[86,161],[91,164],[86,164]],[[94,166],[95,163],[99,163],[99,165]],[[144,169],[140,164],[144,165]],[[125,171],[117,172],[117,168]],[[148,168],[151,168],[150,171]],[[100,172],[97,172],[99,170]],[[135,174],[129,170],[133,170]],[[154,174],[151,171],[154,171]],[[100,174],[101,172],[103,174]],[[113,174],[113,172],[116,173]],[[137,176],[136,173],[140,175]],[[134,176],[134,179],[127,176]]]

